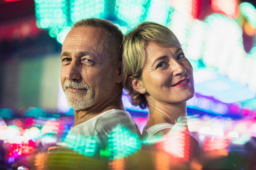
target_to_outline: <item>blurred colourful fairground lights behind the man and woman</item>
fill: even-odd
[[[233,145],[256,157],[255,7],[254,0],[0,0],[0,161],[26,169],[31,163],[13,164],[62,141],[73,125],[60,52],[84,18],[110,20],[124,34],[143,21],[168,26],[194,68],[189,130],[205,151]],[[132,106],[125,92],[123,102],[142,130],[147,108]]]

